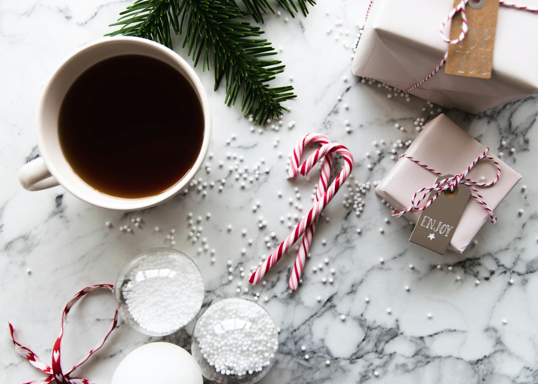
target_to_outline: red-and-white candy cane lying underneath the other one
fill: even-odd
[[[295,145],[295,147],[293,148],[292,158],[289,161],[288,177],[290,179],[295,179],[295,177],[297,176],[298,170],[299,170],[299,161],[301,160],[302,151],[310,143],[319,143],[323,145],[323,144],[329,144],[330,140],[326,136],[320,133],[309,133],[305,137],[303,137],[301,140],[299,140],[297,144]],[[321,166],[320,181],[318,181],[317,183],[317,190],[316,190],[316,195],[314,197],[314,202],[319,201],[321,196],[327,190],[327,186],[329,185],[329,177],[331,175],[332,158],[333,158],[332,153],[329,153],[323,158],[323,164]],[[302,243],[299,246],[299,252],[297,253],[297,257],[295,258],[295,265],[292,270],[292,275],[289,276],[289,283],[288,283],[289,289],[295,290],[299,286],[299,280],[301,279],[301,274],[302,274],[303,268],[305,267],[308,250],[310,249],[310,244],[312,243],[312,237],[314,236],[314,232],[316,230],[317,219],[318,217],[314,219],[314,221],[312,222],[312,225],[310,225],[307,228],[305,234],[303,235]]]

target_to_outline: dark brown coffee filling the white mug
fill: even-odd
[[[58,134],[74,172],[101,193],[154,196],[194,166],[203,141],[200,99],[185,76],[142,55],[96,63],[63,98]]]

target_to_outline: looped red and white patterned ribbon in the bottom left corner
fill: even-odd
[[[73,305],[80,300],[81,297],[86,295],[87,293],[93,292],[100,288],[108,288],[112,290],[114,286],[110,284],[98,284],[90,287],[86,287],[82,289],[79,293],[77,293],[69,302],[67,303],[65,309],[63,310],[62,314],[62,327],[60,329],[60,336],[56,339],[56,342],[54,343],[54,347],[52,349],[52,368],[49,367],[43,360],[37,357],[35,353],[33,353],[30,349],[26,348],[25,346],[19,344],[15,337],[13,336],[13,333],[15,330],[13,330],[13,325],[9,323],[9,330],[11,335],[11,341],[13,342],[13,345],[15,345],[15,350],[22,354],[28,361],[30,361],[30,364],[32,364],[34,367],[39,369],[39,371],[45,373],[47,376],[41,379],[37,379],[34,381],[26,382],[25,384],[47,384],[51,383],[53,381],[56,381],[58,384],[96,384],[93,381],[89,381],[86,379],[81,378],[72,378],[70,375],[75,370],[75,368],[79,367],[83,364],[84,361],[88,360],[88,358],[97,352],[98,349],[100,349],[104,342],[107,341],[108,337],[110,336],[110,333],[114,331],[116,328],[116,325],[118,324],[118,311],[116,310],[116,313],[114,315],[114,321],[112,322],[112,326],[110,327],[110,330],[108,331],[107,335],[104,337],[103,341],[95,346],[93,350],[88,352],[82,359],[76,362],[76,364],[69,370],[69,372],[63,373],[62,367],[60,364],[60,347],[62,343],[62,336],[63,336],[63,327],[65,326],[67,314],[69,313],[69,310]]]

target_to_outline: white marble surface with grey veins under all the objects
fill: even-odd
[[[195,259],[206,283],[206,305],[236,296],[238,268],[257,265],[268,249],[264,238],[274,231],[278,243],[288,234],[280,216],[304,213],[310,205],[312,180],[285,178],[287,154],[293,143],[307,132],[318,131],[349,146],[355,155],[354,180],[376,181],[393,166],[388,149],[398,139],[416,136],[417,117],[437,115],[437,107],[415,97],[387,98],[387,90],[363,84],[350,73],[351,48],[357,22],[363,20],[366,1],[320,0],[307,18],[267,16],[266,37],[282,47],[286,63],[282,83],[293,75],[299,97],[288,103],[292,111],[284,117],[279,131],[266,129],[251,133],[250,123],[237,108],[223,104],[223,91],[213,93],[213,73],[196,68],[213,108],[214,153],[211,172],[202,170],[203,181],[226,178],[224,190],[207,188],[206,197],[189,191],[158,207],[140,212],[116,212],[91,207],[66,193],[61,187],[30,193],[17,182],[17,171],[37,154],[34,120],[40,88],[46,77],[67,54],[80,45],[111,31],[107,25],[131,1],[89,0],[5,0],[0,3],[0,324],[11,321],[17,336],[41,358],[49,361],[60,326],[61,310],[76,291],[94,283],[112,283],[119,269],[135,254],[152,246],[166,246],[166,234],[176,229],[175,247]],[[327,15],[326,10],[329,10]],[[342,20],[342,26],[335,26]],[[327,28],[334,30],[327,34]],[[338,35],[342,30],[344,34]],[[349,35],[346,35],[349,31]],[[338,36],[339,40],[335,40]],[[176,51],[181,51],[177,40]],[[348,77],[344,82],[343,76]],[[337,96],[342,101],[337,101]],[[151,101],[148,101],[151,104]],[[349,110],[343,108],[349,104]],[[423,107],[427,107],[423,111]],[[538,182],[538,98],[530,97],[473,116],[448,111],[473,137],[495,153],[504,151],[501,140],[515,153],[505,161],[523,179],[497,209],[499,222],[486,223],[476,246],[463,255],[444,256],[408,243],[412,227],[405,219],[384,218],[390,212],[369,191],[360,217],[342,205],[341,191],[326,210],[330,222],[320,222],[312,258],[308,261],[303,285],[289,294],[288,274],[293,252],[287,254],[268,275],[268,284],[252,288],[268,296],[261,304],[282,329],[277,362],[263,379],[265,383],[534,383],[538,381],[538,292],[537,208]],[[287,124],[294,120],[293,129]],[[349,120],[351,133],[346,133]],[[405,127],[401,132],[394,124]],[[226,145],[235,133],[237,138]],[[273,146],[279,138],[278,145]],[[374,140],[387,145],[377,155]],[[279,153],[283,153],[279,157]],[[370,152],[369,158],[365,153]],[[399,151],[399,153],[401,150]],[[243,156],[241,166],[260,164],[258,180],[246,182],[244,189],[229,174],[233,159],[226,153]],[[139,148],[125,148],[126,160],[138,160]],[[218,167],[224,161],[223,168]],[[366,165],[373,168],[368,170]],[[265,168],[269,170],[265,173]],[[218,185],[219,183],[217,183]],[[526,191],[521,186],[528,186]],[[299,187],[302,212],[288,204]],[[277,191],[282,191],[282,197]],[[256,201],[260,207],[253,212]],[[522,215],[518,210],[524,209]],[[202,237],[215,248],[217,261],[208,252],[197,254],[199,242],[187,237],[188,212],[203,218]],[[267,226],[258,229],[258,217]],[[131,233],[119,231],[133,217],[143,225]],[[110,221],[112,227],[104,225]],[[231,224],[228,232],[226,226]],[[160,227],[159,232],[153,228]],[[358,235],[356,229],[362,233]],[[384,232],[380,233],[379,228]],[[246,236],[241,230],[246,229]],[[247,240],[252,239],[249,246]],[[327,245],[322,245],[322,239]],[[246,248],[246,255],[240,250]],[[379,258],[385,259],[380,264]],[[323,271],[312,266],[329,264]],[[228,281],[226,261],[235,272]],[[413,264],[412,270],[408,266]],[[436,266],[440,264],[441,270]],[[453,271],[448,267],[453,266]],[[328,269],[335,268],[334,283],[323,284]],[[31,273],[27,274],[26,270]],[[456,280],[461,276],[461,281]],[[480,281],[477,286],[476,280]],[[509,283],[513,279],[513,285]],[[410,291],[404,287],[408,285]],[[316,297],[321,296],[321,302]],[[366,304],[364,298],[370,297]],[[386,309],[392,313],[387,314]],[[63,365],[67,367],[88,351],[110,325],[114,301],[106,293],[88,297],[70,315],[66,330]],[[427,314],[432,318],[428,319]],[[340,315],[346,316],[341,321]],[[507,323],[503,324],[502,320]],[[7,327],[6,327],[7,328]],[[164,340],[190,345],[191,328]],[[5,334],[4,334],[5,335]],[[119,361],[149,338],[119,326],[107,344],[76,372],[87,379],[110,382]],[[306,346],[306,352],[301,346]],[[308,353],[309,360],[303,355]],[[325,360],[330,360],[329,366]],[[378,373],[378,376],[374,375]],[[18,383],[40,377],[39,372],[13,350],[7,336],[0,339],[0,382]]]

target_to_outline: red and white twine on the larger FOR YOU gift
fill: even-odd
[[[370,14],[370,10],[372,8],[373,2],[374,2],[374,0],[370,0],[370,4],[368,5],[368,10],[366,11],[365,21],[368,19],[368,16]],[[469,30],[469,26],[467,24],[467,16],[465,14],[465,6],[467,5],[468,2],[469,2],[469,0],[462,0],[461,2],[459,2],[458,5],[455,8],[452,8],[452,10],[449,12],[447,18],[445,18],[443,20],[443,22],[441,23],[441,29],[440,29],[441,38],[443,39],[443,41],[447,42],[448,44],[458,44],[460,41],[462,41],[465,38],[465,34]],[[499,4],[504,5],[504,6],[511,6],[512,8],[516,8],[516,9],[520,9],[520,10],[524,10],[524,11],[538,12],[538,8],[530,7],[530,6],[527,6],[527,5],[519,5],[519,4],[515,4],[515,3],[512,3],[512,2],[507,2],[507,1],[504,1],[504,0],[499,0]],[[444,34],[444,26],[447,25],[449,20],[451,20],[456,15],[456,13],[458,13],[458,12],[462,12],[462,30],[461,30],[461,32],[459,33],[459,36],[456,39],[451,40],[449,37],[447,37],[447,35]],[[448,58],[448,52],[444,54],[443,59],[441,60],[439,65],[433,71],[431,71],[422,80],[417,81],[415,84],[413,84],[413,86],[406,89],[404,91],[404,94],[407,94],[407,93],[413,91],[417,87],[420,87],[426,81],[430,80],[431,77],[433,77],[437,72],[439,72],[439,70],[444,66],[444,64],[447,62],[447,58]]]

